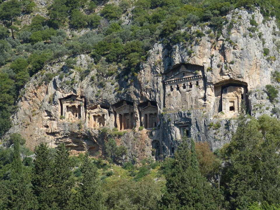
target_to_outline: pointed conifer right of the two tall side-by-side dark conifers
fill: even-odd
[[[101,191],[97,179],[97,168],[91,162],[89,153],[85,153],[81,165],[82,179],[78,187],[78,209],[100,210],[102,209]]]

